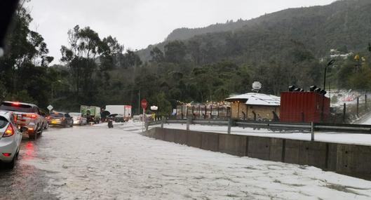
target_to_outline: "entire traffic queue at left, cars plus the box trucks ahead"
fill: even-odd
[[[51,107],[51,105],[50,105]],[[41,111],[34,104],[4,101],[0,105],[0,161],[5,169],[13,169],[18,159],[22,140],[37,140],[50,127],[71,128],[112,121],[124,122],[130,119],[131,106],[109,105],[107,109],[81,105],[80,112],[49,113]],[[122,112],[121,112],[122,111]]]

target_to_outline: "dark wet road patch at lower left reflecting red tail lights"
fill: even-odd
[[[43,134],[48,134],[48,131]],[[0,199],[58,199],[55,195],[44,192],[48,184],[46,172],[28,162],[33,159],[46,159],[36,152],[47,142],[48,137],[43,136],[36,141],[23,138],[15,168],[5,170],[0,166]]]

